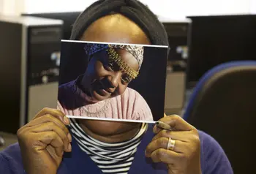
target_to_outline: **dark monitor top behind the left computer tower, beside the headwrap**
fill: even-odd
[[[63,20],[64,25],[62,39],[69,39],[72,31],[72,25],[75,23],[75,20],[76,18],[78,18],[78,15],[80,15],[80,12],[31,13],[22,15]]]

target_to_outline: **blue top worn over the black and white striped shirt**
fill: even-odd
[[[202,174],[233,174],[225,152],[214,138],[199,131],[200,155]],[[130,167],[129,174],[167,174],[166,164],[154,163],[145,157],[145,149],[154,137],[152,127],[143,135],[138,146],[135,159]],[[20,147],[18,143],[10,145],[0,152],[0,174],[24,174]],[[102,171],[91,158],[80,150],[75,139],[72,139],[72,152],[64,154],[63,161],[59,166],[58,174],[100,174]]]

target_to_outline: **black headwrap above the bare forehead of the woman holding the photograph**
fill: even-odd
[[[99,0],[83,11],[74,23],[70,39],[78,40],[95,20],[118,12],[140,26],[152,45],[168,45],[167,34],[157,16],[137,0]]]

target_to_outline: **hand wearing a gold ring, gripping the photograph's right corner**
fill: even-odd
[[[154,126],[157,134],[146,148],[146,156],[153,162],[167,164],[168,173],[200,174],[200,140],[197,129],[179,116],[165,116],[162,121],[172,131]],[[174,148],[167,149],[169,141],[175,140]]]

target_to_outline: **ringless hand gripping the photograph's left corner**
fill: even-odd
[[[28,174],[56,174],[64,151],[71,151],[69,119],[60,110],[44,108],[18,132],[24,170]]]

